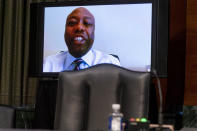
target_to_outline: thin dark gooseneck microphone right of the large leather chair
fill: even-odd
[[[159,110],[158,110],[158,124],[159,124],[159,130],[162,128],[163,124],[163,97],[162,97],[162,90],[161,90],[161,83],[159,80],[159,77],[157,75],[157,71],[155,69],[152,69],[153,75],[156,77],[157,80],[157,87],[158,87],[158,93],[159,93]]]

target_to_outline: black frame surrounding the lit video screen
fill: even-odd
[[[85,5],[120,5],[152,3],[152,39],[151,39],[151,70],[156,69],[158,51],[157,43],[157,0],[91,0],[91,1],[64,1],[64,2],[41,2],[30,5],[30,45],[29,67],[30,77],[58,77],[59,72],[43,72],[44,53],[44,8],[62,6],[85,6]],[[159,74],[159,73],[158,73]]]

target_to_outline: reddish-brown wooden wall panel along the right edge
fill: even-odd
[[[197,105],[197,0],[187,0],[185,105]]]

